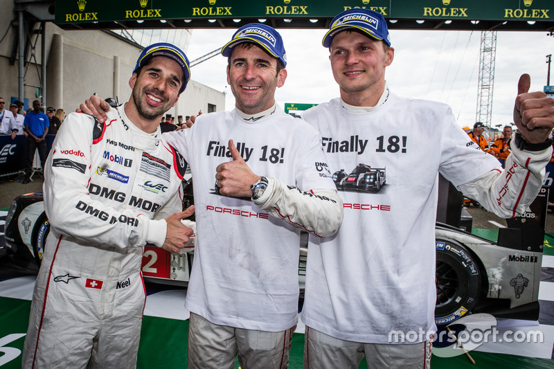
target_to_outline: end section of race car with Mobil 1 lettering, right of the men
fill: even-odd
[[[436,325],[472,313],[537,320],[548,188],[497,242],[436,224]]]

